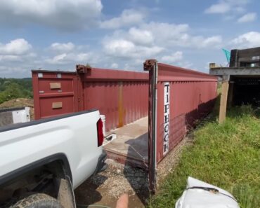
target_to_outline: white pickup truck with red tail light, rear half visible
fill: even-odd
[[[0,207],[75,207],[73,189],[105,169],[99,111],[0,128]]]

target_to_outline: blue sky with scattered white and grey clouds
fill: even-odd
[[[146,59],[208,73],[221,48],[260,46],[258,0],[0,0],[0,77],[76,64],[143,71]]]

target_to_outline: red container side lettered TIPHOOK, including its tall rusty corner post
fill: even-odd
[[[156,188],[156,165],[199,118],[212,111],[216,76],[147,60],[149,71],[149,181]]]

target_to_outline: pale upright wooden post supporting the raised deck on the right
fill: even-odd
[[[229,76],[223,77],[222,86],[221,86],[221,99],[220,99],[220,108],[219,108],[219,123],[223,123],[226,119],[226,106],[228,102],[228,86],[229,86]]]

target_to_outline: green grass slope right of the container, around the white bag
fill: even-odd
[[[184,148],[148,207],[174,207],[188,176],[228,190],[241,208],[260,207],[260,113],[235,107],[219,125],[216,112],[195,130],[194,144]]]

